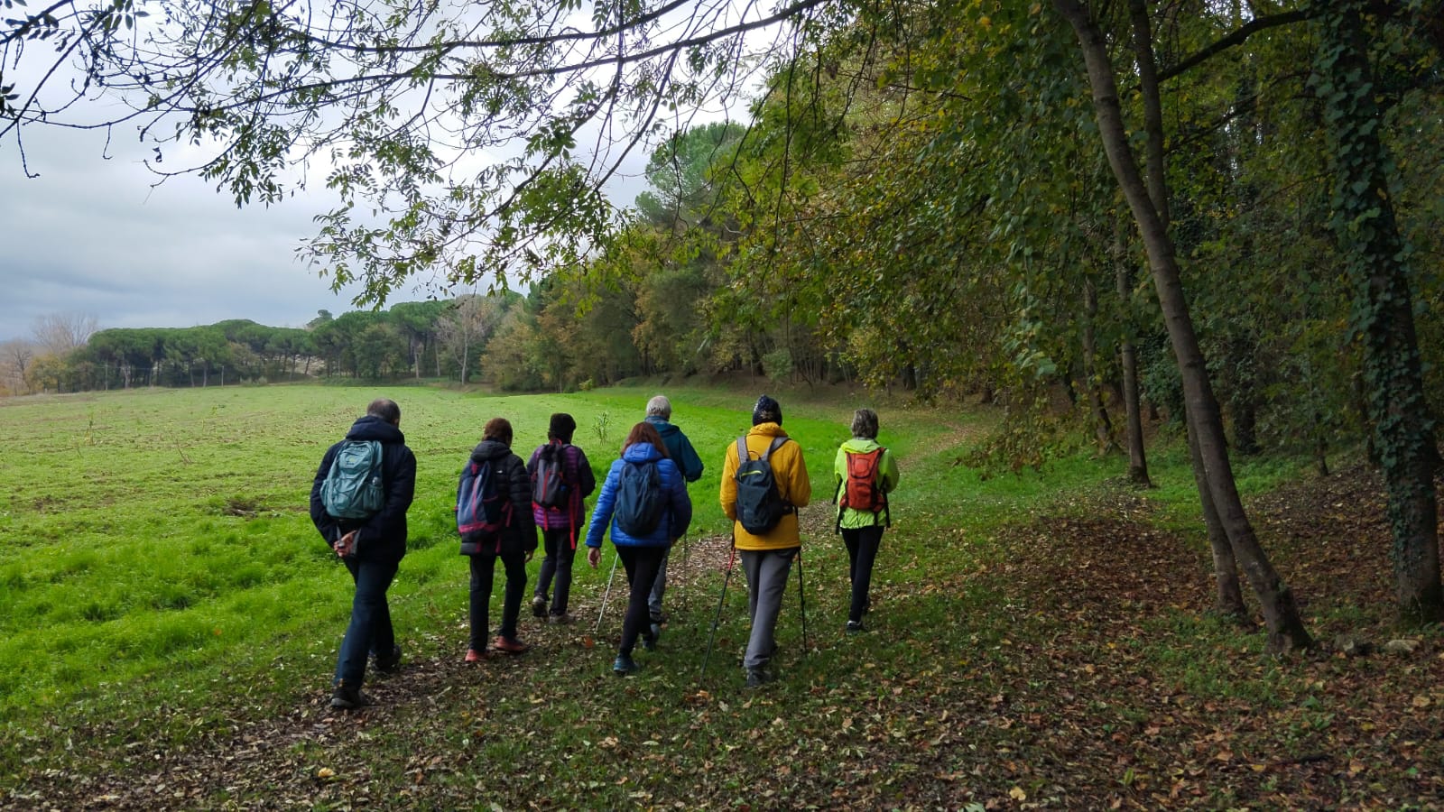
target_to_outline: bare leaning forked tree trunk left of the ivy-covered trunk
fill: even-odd
[[[1219,519],[1227,533],[1233,555],[1243,565],[1253,592],[1259,598],[1264,620],[1268,626],[1268,650],[1287,652],[1292,649],[1307,649],[1313,639],[1304,629],[1304,621],[1294,602],[1294,594],[1274,569],[1265,555],[1264,548],[1253,533],[1248,513],[1243,510],[1243,500],[1239,497],[1238,485],[1233,481],[1233,468],[1229,462],[1227,442],[1223,432],[1223,416],[1219,410],[1213,384],[1209,380],[1207,366],[1203,351],[1199,347],[1199,337],[1194,332],[1193,316],[1183,293],[1183,280],[1178,272],[1178,259],[1168,238],[1167,227],[1160,207],[1167,201],[1165,179],[1161,173],[1161,160],[1149,160],[1149,183],[1138,169],[1132,149],[1128,143],[1128,131],[1123,126],[1122,105],[1118,98],[1118,84],[1113,78],[1113,66],[1109,61],[1108,43],[1093,23],[1087,6],[1079,0],[1053,0],[1057,10],[1073,26],[1079,45],[1083,51],[1083,62],[1087,66],[1089,85],[1093,90],[1093,111],[1097,118],[1099,136],[1103,140],[1103,150],[1108,153],[1109,166],[1113,176],[1128,199],[1128,207],[1134,212],[1134,220],[1142,234],[1144,249],[1148,253],[1148,267],[1154,277],[1154,288],[1168,328],[1168,338],[1178,361],[1183,376],[1184,403],[1188,422],[1196,429],[1199,452],[1203,461],[1203,478],[1206,491],[1213,498],[1219,511]],[[1141,9],[1142,0],[1131,0],[1131,6]],[[1147,12],[1147,10],[1144,10]],[[1135,27],[1136,27],[1135,13]],[[1147,14],[1144,19],[1147,25]],[[1136,62],[1139,65],[1139,82],[1149,114],[1149,134],[1152,140],[1161,134],[1161,117],[1158,110],[1158,82],[1152,61],[1151,35],[1138,32],[1135,36]],[[1161,143],[1161,142],[1160,142]],[[1155,153],[1149,146],[1149,156]],[[1161,149],[1157,150],[1161,156]],[[1157,196],[1149,196],[1149,186]]]

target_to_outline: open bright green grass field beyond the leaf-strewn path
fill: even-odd
[[[0,459],[0,535],[10,553],[0,565],[0,715],[84,705],[105,698],[101,686],[176,669],[193,670],[198,683],[234,676],[231,662],[258,657],[277,640],[308,657],[328,650],[349,584],[312,529],[306,498],[321,454],[377,393],[231,387],[4,402],[0,420],[16,441]],[[407,608],[446,591],[456,616],[465,562],[455,555],[451,504],[481,425],[508,418],[516,449],[527,455],[544,441],[550,413],[569,410],[575,442],[601,475],[651,392],[391,394],[417,455],[410,555],[393,595]],[[749,426],[749,407],[725,392],[674,396],[674,420],[709,468],[690,488],[692,536],[725,532],[716,471],[725,445]],[[819,483],[814,498],[826,498],[851,406],[793,400],[784,409]],[[605,438],[593,431],[599,416],[608,418]],[[897,425],[885,431],[898,436],[900,455],[927,441],[915,431],[920,420]],[[583,588],[601,578],[579,575]]]

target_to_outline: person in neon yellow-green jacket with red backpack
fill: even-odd
[[[848,546],[848,576],[852,605],[848,631],[866,631],[862,614],[871,604],[872,563],[882,543],[882,529],[892,523],[888,494],[898,485],[898,464],[892,452],[878,445],[878,413],[858,409],[852,415],[852,439],[838,448],[833,462],[838,490],[838,532]]]

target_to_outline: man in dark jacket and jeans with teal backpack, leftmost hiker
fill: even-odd
[[[386,501],[380,511],[365,519],[336,519],[326,513],[321,485],[326,481],[341,442],[332,445],[310,485],[310,520],[321,537],[341,556],[355,581],[351,601],[351,624],[341,642],[331,707],[360,708],[367,704],[361,694],[367,657],[375,656],[375,668],[393,670],[401,663],[401,647],[391,629],[391,610],[386,591],[396,578],[396,568],[406,555],[406,510],[416,490],[416,455],[401,435],[401,407],[394,400],[378,397],[347,432],[348,441],[378,441],[381,444],[381,487]]]

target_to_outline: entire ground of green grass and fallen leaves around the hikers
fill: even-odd
[[[325,448],[383,393],[401,405],[419,464],[391,589],[406,666],[368,686],[377,708],[334,714],[351,589],[306,494]],[[653,393],[277,386],[0,400],[0,806],[1425,808],[1444,786],[1418,769],[1444,750],[1438,725],[1432,740],[1408,727],[1411,709],[1444,702],[1437,633],[1412,660],[1266,660],[1256,634],[1207,617],[1178,449],[1155,451],[1162,487],[1148,496],[1119,487],[1119,459],[1087,455],[985,480],[960,464],[991,425],[983,412],[879,407],[902,487],[874,631],[842,634],[846,553],[819,504],[804,513],[807,637],[794,589],[783,681],[748,692],[739,576],[718,614],[716,491],[755,393],[669,392],[708,471],[690,488],[697,513],[673,553],[658,652],[638,657],[637,678],[611,676],[615,592],[593,634],[608,550],[599,571],[579,556],[583,623],[527,617],[533,652],[462,666],[466,566],[451,506],[481,425],[511,419],[526,457],[549,415],[570,412],[601,475]],[[825,503],[864,402],[780,399]],[[1240,474],[1259,498],[1300,478],[1278,459]],[[1360,595],[1310,552],[1317,522],[1269,516],[1265,540],[1315,631],[1382,634],[1379,529],[1352,526],[1359,549],[1340,553],[1369,566],[1336,562],[1372,578]],[[1366,712],[1383,705],[1402,714],[1388,735],[1382,711]]]

